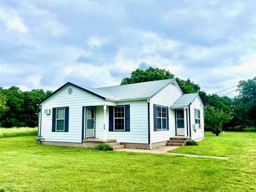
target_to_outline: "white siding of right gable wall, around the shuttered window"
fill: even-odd
[[[150,134],[151,143],[168,140],[175,135],[175,111],[169,108],[169,130],[154,131],[154,104],[170,107],[179,97],[179,88],[172,84],[165,87],[150,100]]]

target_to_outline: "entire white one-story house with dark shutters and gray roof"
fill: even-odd
[[[175,79],[101,88],[68,82],[40,107],[43,144],[152,149],[204,138],[204,105]]]

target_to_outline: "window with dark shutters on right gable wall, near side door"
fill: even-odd
[[[167,115],[166,107],[156,107],[156,129],[166,130],[167,129]]]

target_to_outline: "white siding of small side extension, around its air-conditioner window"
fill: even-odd
[[[195,124],[195,109],[200,110],[200,122],[201,122],[201,128],[196,129],[196,132],[193,130],[193,124]],[[190,114],[191,114],[191,138],[201,138],[204,137],[204,107],[201,104],[198,96],[195,98],[195,100],[190,105]]]

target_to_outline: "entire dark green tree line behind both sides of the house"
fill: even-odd
[[[205,129],[216,135],[222,129],[256,127],[256,77],[239,82],[239,95],[235,98],[207,94],[189,78],[183,80],[170,71],[159,68],[137,69],[121,85],[176,78],[184,93],[198,92],[205,106]],[[37,126],[40,111],[37,105],[52,91],[33,89],[20,91],[19,87],[0,87],[0,125],[6,128]]]

